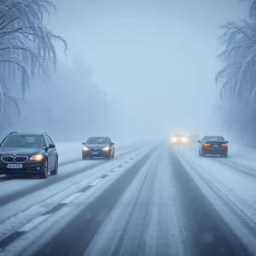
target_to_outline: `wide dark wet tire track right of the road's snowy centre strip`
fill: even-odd
[[[190,255],[250,255],[247,247],[230,229],[211,201],[195,183],[193,177],[170,150],[170,164],[183,207],[183,219],[189,227],[194,246]]]

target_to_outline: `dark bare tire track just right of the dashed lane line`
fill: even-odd
[[[83,255],[85,248],[88,247],[97,230],[108,217],[115,203],[154,153],[154,150],[155,148],[151,149],[134,166],[119,176],[35,255]],[[84,218],[85,216],[90,216],[90,218]]]

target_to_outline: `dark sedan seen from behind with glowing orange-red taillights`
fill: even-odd
[[[199,155],[205,156],[207,154],[220,155],[228,157],[228,141],[224,140],[222,136],[205,136],[201,141],[198,141]]]

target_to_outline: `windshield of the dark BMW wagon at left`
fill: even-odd
[[[41,135],[9,135],[1,147],[14,148],[14,147],[27,147],[27,148],[41,148],[44,146],[44,140]]]

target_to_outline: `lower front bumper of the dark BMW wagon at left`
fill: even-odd
[[[2,174],[38,174],[44,170],[44,161],[22,163],[22,168],[7,168],[6,163],[0,163],[0,175]]]

